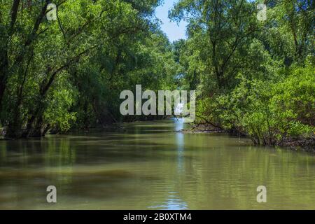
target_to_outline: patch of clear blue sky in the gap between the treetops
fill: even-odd
[[[182,21],[177,25],[176,22],[170,22],[169,18],[167,18],[169,10],[173,8],[174,3],[177,1],[178,0],[164,0],[164,4],[155,10],[156,17],[162,21],[161,29],[167,34],[169,41],[186,38],[185,32],[187,23]]]

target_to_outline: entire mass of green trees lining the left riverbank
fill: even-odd
[[[48,3],[57,20],[48,20]],[[4,1],[0,105],[6,137],[106,125],[119,94],[172,87],[172,45],[158,28],[158,0]],[[128,118],[134,120],[137,118]]]

